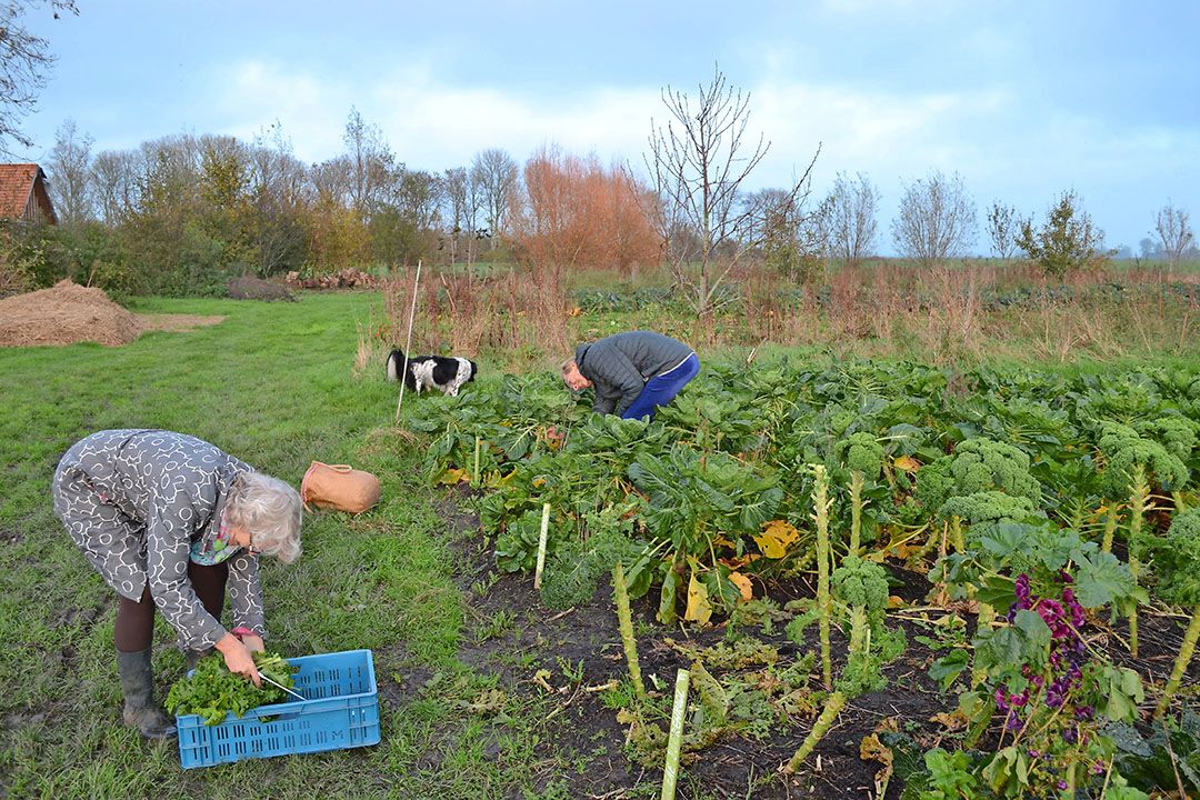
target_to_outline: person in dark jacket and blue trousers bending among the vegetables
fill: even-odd
[[[563,363],[563,381],[574,391],[595,386],[593,410],[624,420],[654,417],[700,372],[696,351],[653,331],[614,333],[575,348]]]

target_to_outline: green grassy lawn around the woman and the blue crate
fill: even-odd
[[[539,709],[510,709],[503,722],[466,710],[488,679],[456,657],[466,612],[422,455],[391,432],[395,387],[382,369],[353,375],[355,320],[368,300],[378,302],[348,294],[275,305],[140,301],[134,311],[227,319],[124,348],[0,350],[0,795],[539,796],[530,722]],[[148,744],[120,724],[114,599],[49,499],[62,451],[112,427],[187,432],[293,485],[311,459],[383,479],[374,512],[308,517],[302,558],[263,567],[270,646],[374,651],[383,744],[184,772],[174,741]],[[164,692],[184,661],[158,625]]]

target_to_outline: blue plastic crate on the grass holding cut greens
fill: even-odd
[[[370,650],[288,661],[300,668],[293,678],[294,690],[307,698],[302,703],[260,705],[241,718],[229,714],[215,726],[194,714],[175,717],[184,769],[379,744],[379,694]]]

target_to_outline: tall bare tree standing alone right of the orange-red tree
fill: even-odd
[[[766,206],[742,204],[743,181],[770,148],[762,134],[757,142],[745,140],[750,95],[730,86],[718,66],[695,100],[667,86],[662,104],[667,122],[656,126],[652,121],[646,156],[658,200],[648,211],[676,282],[689,290],[696,313],[703,315],[712,312],[713,297],[730,270],[768,229],[761,213],[778,216],[781,207],[803,204],[821,149],[782,198]]]

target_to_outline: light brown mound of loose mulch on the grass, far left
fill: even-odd
[[[109,300],[103,289],[80,287],[71,278],[0,300],[0,347],[128,344],[140,332],[138,318]]]

